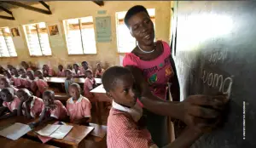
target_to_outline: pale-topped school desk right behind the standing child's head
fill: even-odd
[[[97,120],[98,120],[99,124],[102,124],[102,108],[103,108],[102,103],[103,102],[111,102],[112,100],[110,100],[108,98],[108,96],[106,95],[106,90],[103,88],[103,84],[90,90],[90,93],[97,95],[97,97],[96,97],[96,99],[97,99],[96,100]]]

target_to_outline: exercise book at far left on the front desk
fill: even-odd
[[[15,124],[1,130],[0,135],[8,139],[16,140],[31,130],[32,129],[28,125],[15,122]]]

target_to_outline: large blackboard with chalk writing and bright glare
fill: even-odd
[[[177,2],[175,47],[182,100],[218,92],[230,99],[224,128],[192,147],[255,148],[256,2]]]

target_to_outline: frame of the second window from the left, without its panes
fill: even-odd
[[[43,52],[43,49],[42,49],[42,45],[41,45],[41,41],[39,39],[39,32],[38,32],[38,29],[40,29],[38,26],[40,23],[44,23],[45,25],[45,30],[46,30],[46,33],[47,33],[47,38],[48,38],[48,43],[49,43],[49,49],[50,49],[50,54],[44,54]],[[38,37],[38,43],[39,43],[39,47],[40,47],[40,51],[41,51],[41,55],[33,55],[32,52],[31,52],[31,49],[30,49],[30,43],[29,43],[29,39],[28,39],[28,34],[26,32],[26,26],[32,26],[32,25],[35,25],[36,26],[36,31],[37,31],[37,37]],[[46,22],[37,22],[37,23],[32,23],[32,24],[26,24],[26,25],[22,25],[23,27],[23,31],[24,31],[24,35],[25,35],[25,38],[26,38],[26,46],[28,48],[28,52],[29,52],[29,55],[31,57],[51,57],[52,56],[52,49],[50,47],[50,42],[49,42],[49,31],[48,31],[48,26],[47,26],[47,23]]]

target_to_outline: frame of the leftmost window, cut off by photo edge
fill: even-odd
[[[15,54],[16,54],[15,56],[11,56],[11,55],[10,55],[10,53],[11,53],[10,50],[11,50],[11,49],[10,49],[9,46],[8,46],[6,37],[4,36],[4,33],[5,33],[5,31],[3,31],[4,29],[9,29],[9,34],[10,34],[10,35],[7,36],[7,37],[10,37],[10,38],[11,38],[12,46],[14,46],[14,49],[15,49]],[[14,43],[14,40],[13,40],[13,36],[12,36],[12,34],[11,34],[10,27],[9,27],[9,26],[0,27],[0,30],[1,30],[2,33],[3,33],[4,44],[5,44],[5,46],[6,46],[7,50],[8,50],[8,53],[9,53],[9,56],[3,56],[3,55],[0,53],[0,58],[3,59],[3,58],[16,58],[16,57],[18,57],[16,48],[15,48],[15,43]]]

